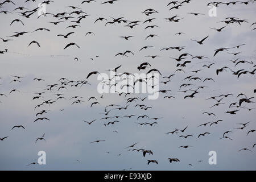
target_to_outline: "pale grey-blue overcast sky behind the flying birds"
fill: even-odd
[[[23,0],[24,1],[24,0]],[[3,2],[3,1],[1,1]],[[169,11],[173,6],[167,7],[170,1],[153,1],[153,0],[119,0],[113,5],[104,4],[100,0],[92,3],[83,3],[82,1],[66,1],[55,0],[46,6],[47,13],[71,13],[73,9],[66,6],[77,6],[86,14],[86,19],[82,19],[79,24],[81,27],[66,28],[70,26],[71,20],[77,20],[76,14],[71,16],[57,26],[48,22],[56,22],[58,18],[47,15],[47,17],[38,18],[37,13],[26,18],[18,14],[19,10],[13,12],[16,7],[22,6],[29,10],[38,7],[36,2],[23,3],[21,1],[13,1],[16,5],[5,3],[0,11],[11,11],[12,14],[0,14],[0,37],[3,39],[13,39],[10,42],[0,42],[0,50],[8,49],[7,53],[0,55],[0,138],[9,136],[0,141],[0,169],[2,170],[52,170],[52,169],[69,169],[69,170],[122,170],[132,168],[134,170],[255,170],[256,154],[253,144],[255,141],[255,132],[246,135],[249,130],[256,129],[256,109],[247,110],[242,108],[229,108],[232,102],[238,102],[237,95],[245,94],[248,98],[255,97],[253,90],[255,88],[255,75],[242,75],[239,79],[232,75],[227,69],[216,75],[216,69],[224,66],[234,71],[244,69],[253,71],[254,64],[238,64],[234,67],[234,63],[229,60],[253,61],[255,62],[255,31],[251,26],[255,20],[256,3],[249,5],[219,5],[217,7],[217,16],[210,17],[208,15],[208,2],[204,0],[192,0],[191,3],[183,3],[178,10]],[[159,13],[146,16],[142,12],[146,9],[154,9]],[[24,11],[24,10],[23,10]],[[187,13],[202,13],[204,15],[195,16]],[[164,18],[170,18],[177,15],[181,19],[180,22],[167,22]],[[68,16],[68,15],[67,15]],[[125,27],[127,23],[107,24],[106,21],[94,21],[99,17],[108,20],[112,18],[124,17],[125,20],[144,21],[148,18],[156,18],[152,23],[139,22],[138,26],[133,29]],[[228,24],[222,32],[217,32],[212,28],[221,28],[226,24],[220,22],[228,17],[237,17],[246,19],[248,23]],[[20,22],[10,23],[14,19],[20,19]],[[157,25],[159,27],[147,28],[149,25]],[[250,27],[251,26],[251,27]],[[35,31],[37,28],[48,28],[50,31]],[[28,31],[27,34],[18,38],[7,38],[14,35],[14,32]],[[64,39],[58,34],[67,34],[74,31],[75,34]],[[95,35],[86,35],[86,32],[92,31]],[[175,35],[177,32],[184,32],[184,35]],[[159,37],[145,38],[150,34],[156,34]],[[203,45],[193,42],[191,39],[201,40],[209,35]],[[119,36],[134,36],[129,40],[119,38]],[[36,44],[28,44],[36,40],[40,44],[40,48]],[[64,47],[68,43],[76,43],[80,48],[71,46],[67,49]],[[229,54],[227,51],[220,52],[216,56],[214,50],[218,48],[234,47],[240,44],[246,44],[239,49],[230,49],[229,52],[241,52],[237,56]],[[144,46],[154,46],[143,51],[139,51]],[[182,51],[170,49],[169,51],[160,51],[162,48],[185,46]],[[130,50],[134,55],[114,56],[119,52]],[[188,59],[192,61],[182,67],[185,71],[176,72],[177,61],[170,57],[179,57],[181,53],[190,53],[193,56],[206,56],[209,59]],[[145,57],[147,55],[160,55],[155,59]],[[98,56],[98,57],[96,57]],[[79,61],[74,61],[77,57]],[[91,60],[93,58],[93,60]],[[163,76],[170,76],[171,81],[164,85],[159,83],[159,89],[170,89],[170,93],[160,93],[157,100],[144,100],[130,102],[127,110],[112,110],[110,117],[115,115],[131,115],[131,118],[114,118],[102,120],[105,117],[105,106],[116,104],[126,106],[126,99],[129,97],[146,97],[147,94],[130,94],[126,97],[118,96],[118,94],[101,94],[97,92],[97,76],[93,75],[88,78],[91,85],[84,85],[82,88],[67,86],[68,90],[61,89],[57,92],[54,88],[52,92],[47,91],[44,94],[44,100],[56,100],[55,93],[63,93],[67,100],[58,100],[51,106],[45,105],[40,109],[34,109],[36,105],[43,102],[42,99],[33,100],[37,92],[42,92],[49,84],[60,84],[60,78],[65,77],[68,80],[86,80],[89,72],[98,71],[100,73],[110,74],[108,69],[118,67],[118,73],[146,73],[146,71],[138,71],[137,67],[148,62],[151,68],[158,69]],[[212,67],[205,68],[203,65],[214,63]],[[198,73],[191,73],[202,69]],[[15,76],[26,76],[21,78],[21,82],[11,82]],[[195,77],[213,78],[213,81],[185,80],[189,75]],[[43,78],[45,81],[35,81],[34,78]],[[160,78],[160,81],[167,81],[168,78]],[[191,83],[194,86],[187,86],[185,89],[196,89],[197,86],[207,86],[200,89],[195,98],[186,98],[184,96],[192,92],[178,92],[181,84]],[[18,89],[20,92],[10,93],[12,89]],[[224,98],[221,102],[225,104],[213,107],[217,103],[215,100],[205,99],[220,94],[233,94]],[[69,98],[73,96],[83,97],[82,104],[72,104],[73,100]],[[166,99],[164,96],[174,96],[175,98]],[[99,105],[93,105],[90,97],[96,97]],[[242,98],[242,97],[240,97]],[[220,98],[218,98],[220,99]],[[256,101],[255,99],[251,101]],[[134,107],[136,104],[144,104],[152,107],[152,109],[142,110]],[[249,108],[256,107],[255,103],[243,103],[242,106]],[[113,107],[114,109],[115,107]],[[50,121],[33,122],[36,113],[40,110],[49,109],[47,117]],[[63,109],[63,111],[61,111]],[[110,109],[110,107],[108,107]],[[225,114],[226,111],[239,110],[236,115]],[[208,116],[202,114],[204,111],[216,114]],[[147,118],[137,120],[139,115],[148,115],[150,118],[163,117],[159,119],[156,125],[141,126],[135,122],[153,122]],[[92,125],[88,125],[82,120],[92,121],[97,119]],[[217,125],[211,127],[197,127],[202,123],[217,121],[222,119]],[[119,123],[104,126],[104,123],[118,120]],[[241,127],[237,123],[250,123],[243,130],[234,129]],[[15,125],[23,125],[26,129],[12,129]],[[166,134],[177,129],[188,128],[184,133],[179,131],[178,134]],[[118,133],[113,132],[117,130]],[[229,139],[219,139],[225,131],[231,130]],[[210,135],[197,138],[201,133],[209,132]],[[46,142],[35,140],[45,133]],[[180,135],[191,134],[191,138],[181,138]],[[90,143],[94,140],[105,140],[100,143]],[[142,152],[127,151],[125,147],[139,142],[134,148],[144,148],[151,150],[154,155],[146,154],[143,157]],[[179,146],[192,146],[191,148],[179,148]],[[238,152],[241,148],[249,148],[253,150]],[[26,166],[32,162],[37,162],[38,151],[46,151],[46,165]],[[208,163],[209,151],[217,152],[217,165]],[[109,152],[106,153],[106,152]],[[121,155],[119,155],[121,154]],[[170,163],[168,158],[177,158],[180,162]],[[152,163],[147,165],[147,160],[157,160],[159,164]],[[77,162],[79,160],[80,162]],[[203,162],[199,163],[199,160]],[[192,164],[193,166],[189,166]]]

